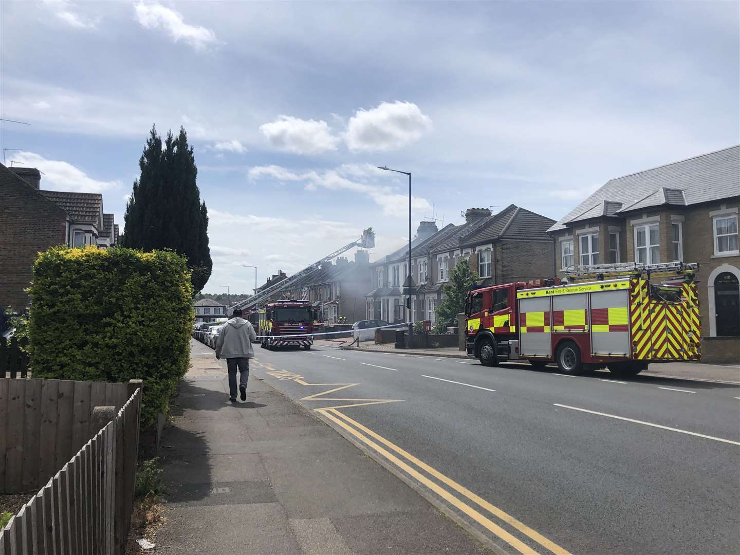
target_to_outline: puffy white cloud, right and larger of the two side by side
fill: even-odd
[[[431,131],[431,118],[413,102],[381,102],[349,118],[345,140],[351,152],[386,152],[418,141]]]

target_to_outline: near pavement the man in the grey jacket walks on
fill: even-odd
[[[228,403],[226,364],[191,342],[163,440],[158,554],[484,554],[429,502],[254,376]]]

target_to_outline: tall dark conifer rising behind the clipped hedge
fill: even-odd
[[[199,292],[211,275],[208,209],[195,183],[198,168],[183,127],[164,145],[152,126],[139,159],[141,175],[126,204],[126,229],[121,244],[145,252],[172,249],[187,258],[192,288]]]

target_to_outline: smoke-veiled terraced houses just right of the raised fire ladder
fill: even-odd
[[[324,322],[363,320],[364,295],[370,286],[368,266],[368,252],[359,249],[354,253],[354,261],[340,256],[334,263],[322,263],[277,293],[277,297],[310,300]]]

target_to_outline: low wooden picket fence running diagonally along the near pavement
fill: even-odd
[[[141,383],[115,418],[0,531],[0,555],[124,555],[131,521]]]

